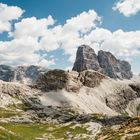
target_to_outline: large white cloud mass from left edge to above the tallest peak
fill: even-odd
[[[51,16],[43,19],[24,18],[15,23],[14,31],[9,32],[13,40],[0,42],[1,63],[49,66],[55,64],[54,58],[47,60],[35,52],[60,48],[73,62],[77,47],[83,43],[83,36],[95,29],[98,22],[101,22],[101,18],[94,10],[72,17],[64,25],[54,25],[55,20]]]

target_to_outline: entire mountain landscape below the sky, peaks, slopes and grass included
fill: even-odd
[[[130,64],[80,46],[74,70],[0,65],[0,139],[139,139],[140,76]]]

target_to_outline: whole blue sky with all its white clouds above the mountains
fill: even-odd
[[[140,0],[0,0],[0,64],[71,69],[82,44],[140,73]]]

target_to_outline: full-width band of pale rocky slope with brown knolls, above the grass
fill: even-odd
[[[123,113],[137,115],[140,77],[134,79],[114,80],[93,70],[80,73],[50,70],[41,73],[30,87],[1,82],[0,103],[10,105],[16,97],[19,102],[26,101],[26,104],[32,106],[35,103],[29,99],[33,99],[41,106],[67,106],[79,113],[103,113],[108,116]],[[34,97],[35,93],[38,93],[37,97]],[[132,107],[132,104],[135,106]]]

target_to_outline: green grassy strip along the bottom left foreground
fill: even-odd
[[[55,125],[55,124],[16,124],[16,123],[1,123],[0,126],[7,131],[0,131],[0,140],[35,140],[39,138],[47,138],[48,140],[68,139],[69,136],[75,137],[77,135],[87,134],[84,127],[69,125]],[[7,132],[12,132],[12,134]],[[14,135],[16,134],[16,135]],[[81,139],[82,140],[82,139]],[[84,139],[83,139],[84,140]]]

